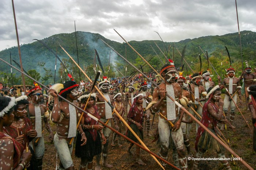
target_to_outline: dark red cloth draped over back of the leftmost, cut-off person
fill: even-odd
[[[12,138],[11,136],[4,134],[3,132],[0,132],[0,139],[11,139],[13,144],[14,144],[14,157],[13,157],[13,169],[15,169],[19,163],[20,160],[22,158],[22,153],[23,153],[23,146],[14,138]]]

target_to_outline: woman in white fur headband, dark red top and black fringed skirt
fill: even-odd
[[[85,92],[78,98],[79,101],[82,103],[81,109],[84,109],[86,102],[90,96],[90,92]],[[97,117],[100,119],[98,109],[95,106],[96,101],[96,94],[92,93],[88,104],[85,108],[85,111],[93,115],[94,117]],[[80,114],[82,114],[81,111],[79,111]],[[106,143],[106,138],[103,135],[102,129],[104,128],[102,125],[99,125],[98,121],[95,121],[87,114],[83,114],[83,117],[81,119],[81,126],[83,128],[83,133],[87,137],[87,142],[85,145],[81,145],[82,138],[80,135],[76,138],[76,149],[75,149],[75,155],[78,158],[81,158],[79,170],[85,170],[86,164],[87,169],[93,169],[93,157],[95,155],[98,155],[101,153],[101,139],[103,140],[102,144]]]

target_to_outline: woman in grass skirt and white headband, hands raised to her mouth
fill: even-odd
[[[210,87],[206,98],[208,101],[204,104],[203,107],[203,116],[201,123],[206,126],[213,134],[216,135],[217,123],[228,123],[227,119],[221,119],[223,113],[223,99],[221,98],[221,89],[219,85],[214,88]],[[218,102],[218,105],[216,104]],[[229,163],[224,160],[225,148],[217,142],[208,132],[206,132],[201,126],[199,126],[197,135],[196,135],[196,158],[201,158],[203,153],[207,150],[214,150],[217,152],[218,157],[223,159],[221,161],[222,165],[231,170]],[[196,160],[193,163],[193,170],[198,169],[199,160]]]

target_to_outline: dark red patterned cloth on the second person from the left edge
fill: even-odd
[[[24,126],[21,128],[17,128],[15,126],[4,126],[3,131],[10,135],[12,138],[16,139],[19,135],[24,135],[24,140],[22,143],[22,146],[26,148],[26,146],[29,146],[29,136],[27,136],[27,132],[30,131],[32,128],[31,122],[27,117],[23,118],[24,120]],[[19,135],[18,135],[19,131]],[[27,144],[27,145],[26,145]]]

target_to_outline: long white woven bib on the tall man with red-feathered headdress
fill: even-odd
[[[174,95],[174,90],[173,90],[173,85],[172,84],[166,84],[166,92],[173,99],[175,99],[175,95]],[[176,119],[175,103],[169,97],[166,97],[166,108],[167,108],[167,120],[174,120],[174,119]]]

